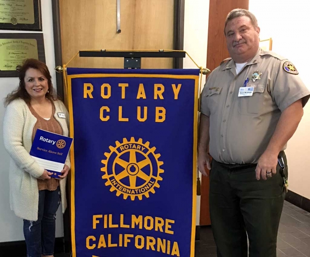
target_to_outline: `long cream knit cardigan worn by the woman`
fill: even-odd
[[[63,135],[68,136],[69,114],[59,100],[54,101],[55,119],[62,126]],[[66,118],[60,119],[58,112]],[[3,141],[6,151],[11,156],[10,162],[10,205],[16,216],[36,221],[38,219],[39,190],[37,178],[43,174],[41,168],[29,154],[32,145],[32,131],[37,119],[22,99],[11,102],[5,111],[3,120]],[[68,156],[66,165],[70,167]],[[62,212],[67,207],[66,179],[60,180]]]

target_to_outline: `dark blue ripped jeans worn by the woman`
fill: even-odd
[[[54,254],[56,212],[60,200],[59,187],[55,191],[39,191],[38,220],[24,220],[27,257]]]

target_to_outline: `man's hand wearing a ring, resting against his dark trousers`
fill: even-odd
[[[260,180],[261,176],[263,180],[266,180],[277,173],[278,154],[267,151],[262,154],[255,169],[257,180]]]

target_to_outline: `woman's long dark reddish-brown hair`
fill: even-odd
[[[9,93],[6,98],[4,98],[4,106],[7,106],[10,104],[12,101],[21,98],[23,99],[27,104],[30,104],[30,95],[27,93],[26,88],[25,88],[25,76],[26,72],[29,68],[33,68],[36,70],[39,70],[46,78],[47,78],[47,84],[48,84],[48,91],[45,95],[47,99],[50,101],[55,101],[57,100],[56,95],[54,94],[53,90],[53,85],[52,85],[52,80],[50,73],[48,71],[47,65],[36,59],[26,59],[21,66],[19,70],[19,86],[16,90],[13,92]]]

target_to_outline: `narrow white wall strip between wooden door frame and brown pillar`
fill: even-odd
[[[185,0],[184,50],[202,67],[207,63],[209,25],[209,0]],[[186,56],[183,68],[196,69],[195,63]],[[202,77],[202,87],[205,76]],[[201,173],[200,173],[201,177]],[[196,225],[200,218],[200,196],[197,196]]]

